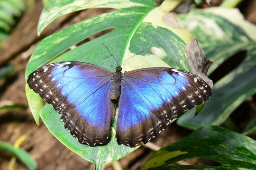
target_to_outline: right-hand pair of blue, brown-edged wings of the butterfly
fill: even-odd
[[[118,144],[146,144],[185,110],[211,96],[198,76],[174,68],[143,68],[123,74],[116,127]]]

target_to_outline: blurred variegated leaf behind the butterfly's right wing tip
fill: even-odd
[[[214,60],[210,73],[233,54],[247,50],[246,59],[214,84],[212,96],[200,114],[194,118],[193,111],[189,110],[177,121],[191,129],[220,125],[256,93],[256,26],[244,20],[238,9],[195,9],[178,18],[198,38],[206,55]]]

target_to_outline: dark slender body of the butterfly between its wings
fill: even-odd
[[[116,68],[116,72],[112,78],[112,85],[110,88],[110,99],[112,101],[117,101],[120,97],[122,75],[122,68],[119,66]]]

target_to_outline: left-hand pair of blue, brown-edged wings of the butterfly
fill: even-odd
[[[60,113],[80,143],[106,144],[115,115],[112,72],[88,63],[59,62],[37,69],[27,84]]]

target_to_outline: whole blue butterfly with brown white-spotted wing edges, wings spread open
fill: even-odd
[[[84,62],[38,68],[27,84],[60,113],[64,127],[81,143],[106,144],[119,107],[118,144],[135,147],[156,137],[184,111],[207,101],[211,87],[175,68],[142,68],[122,73]]]

